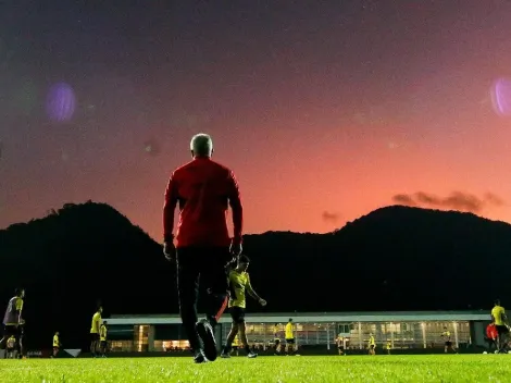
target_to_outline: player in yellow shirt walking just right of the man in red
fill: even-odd
[[[247,269],[250,264],[250,259],[247,256],[240,256],[236,269],[229,272],[229,311],[233,318],[230,332],[227,335],[227,341],[222,351],[222,358],[228,358],[230,355],[230,346],[235,336],[240,335],[241,344],[249,358],[256,358],[258,355],[250,350],[247,339],[246,325],[245,325],[245,309],[247,307],[247,294],[253,299],[259,301],[261,306],[266,306],[266,301],[254,292],[250,283],[250,275]]]

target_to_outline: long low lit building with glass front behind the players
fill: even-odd
[[[199,316],[200,317],[200,316]],[[390,341],[394,349],[443,347],[441,333],[447,328],[456,347],[484,345],[484,330],[489,313],[483,311],[416,311],[416,312],[311,312],[248,313],[247,336],[251,345],[266,348],[273,343],[274,325],[284,326],[292,318],[298,346],[334,346],[338,334],[347,338],[351,349],[366,348],[369,334],[381,346]],[[188,347],[178,316],[113,316],[109,320],[112,351],[171,351]],[[225,314],[216,329],[223,344],[230,328]]]

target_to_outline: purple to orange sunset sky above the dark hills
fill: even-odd
[[[0,228],[92,199],[160,240],[199,132],[246,233],[397,202],[511,222],[507,0],[41,3],[0,4]]]

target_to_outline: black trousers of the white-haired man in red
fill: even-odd
[[[199,279],[207,291],[205,316],[214,329],[228,301],[226,265],[230,259],[226,247],[180,247],[177,249],[179,311],[192,350],[201,348],[196,331]]]

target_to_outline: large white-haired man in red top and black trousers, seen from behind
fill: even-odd
[[[211,137],[194,136],[190,150],[194,160],[175,170],[166,186],[163,251],[169,260],[177,260],[180,318],[194,359],[201,363],[217,356],[214,326],[228,301],[226,267],[241,252],[242,207],[234,173],[211,160]],[[179,222],[174,245],[177,203]],[[233,239],[226,222],[228,206],[233,210]],[[207,319],[201,321],[197,317],[199,276],[208,293]]]

